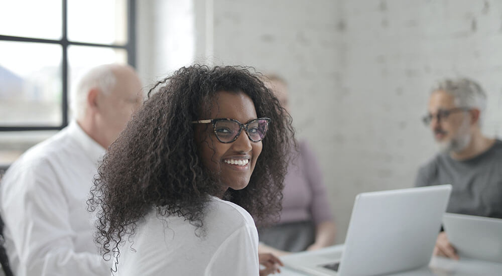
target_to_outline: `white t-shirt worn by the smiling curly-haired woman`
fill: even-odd
[[[205,233],[196,231],[183,217],[160,216],[153,209],[138,224],[136,234],[119,247],[114,274],[259,274],[258,232],[249,213],[236,204],[211,197],[203,224]]]

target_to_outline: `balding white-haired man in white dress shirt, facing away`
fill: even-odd
[[[132,67],[93,68],[73,95],[76,120],[9,168],[0,212],[15,275],[110,274],[86,201],[99,159],[142,102]]]

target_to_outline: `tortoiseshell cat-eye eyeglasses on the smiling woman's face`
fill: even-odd
[[[267,130],[269,129],[270,118],[253,119],[245,124],[240,123],[238,120],[220,118],[211,120],[198,120],[192,123],[212,123],[214,134],[221,143],[232,143],[240,135],[242,129],[253,142],[260,142],[264,139]]]

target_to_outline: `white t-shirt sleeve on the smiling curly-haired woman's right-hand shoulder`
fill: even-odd
[[[253,226],[244,225],[216,249],[204,274],[258,276],[259,273],[258,233]]]

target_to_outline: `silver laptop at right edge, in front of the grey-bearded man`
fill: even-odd
[[[460,257],[502,262],[502,219],[445,213],[443,226]]]

